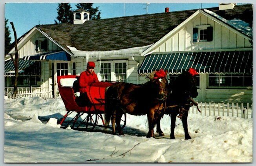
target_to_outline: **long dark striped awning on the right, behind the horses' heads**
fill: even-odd
[[[176,52],[145,57],[139,74],[148,74],[155,70],[168,70],[168,74],[180,74],[194,68],[199,73],[252,73],[252,51],[219,52]]]

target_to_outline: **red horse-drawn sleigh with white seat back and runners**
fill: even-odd
[[[59,87],[59,93],[64,102],[67,113],[59,120],[61,128],[67,128],[69,125],[75,130],[92,131],[95,126],[104,127],[105,122],[102,117],[105,110],[105,91],[107,87],[115,84],[115,82],[99,81],[88,85],[87,96],[89,101],[83,103],[83,106],[77,102],[78,97],[75,93],[78,91],[79,76],[67,75],[58,76],[57,83]],[[72,113],[76,115],[73,118],[69,118]],[[80,117],[85,115],[82,120]],[[103,125],[99,125],[99,120]],[[126,124],[126,115],[122,117],[124,128]]]

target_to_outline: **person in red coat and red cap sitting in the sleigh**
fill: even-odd
[[[79,76],[79,92],[80,92],[80,104],[86,105],[89,102],[87,92],[89,85],[93,82],[99,81],[97,74],[94,72],[95,63],[88,62],[86,71],[81,72]]]

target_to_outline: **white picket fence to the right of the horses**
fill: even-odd
[[[232,116],[240,118],[252,118],[252,104],[249,103],[198,103],[201,111],[198,112],[196,106],[190,107],[190,114],[200,114],[204,116]]]

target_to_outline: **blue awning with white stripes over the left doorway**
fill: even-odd
[[[40,54],[35,54],[31,56],[24,56],[23,60],[60,60],[60,61],[70,61],[70,56],[66,54],[64,51],[59,52],[43,52]]]

